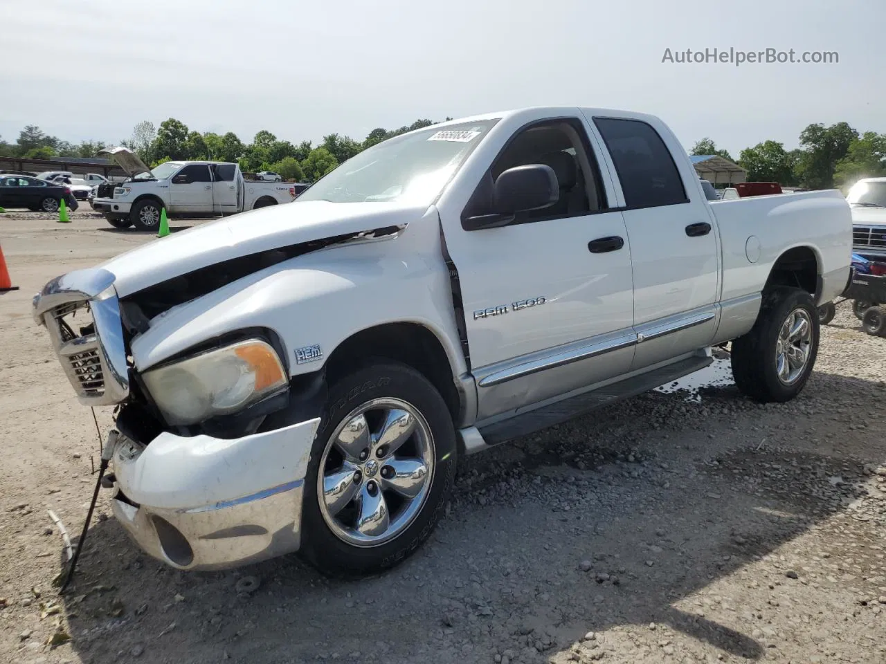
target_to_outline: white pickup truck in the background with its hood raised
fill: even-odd
[[[245,181],[237,164],[220,161],[167,161],[149,169],[135,152],[125,147],[99,151],[112,158],[129,175],[90,201],[116,228],[159,228],[160,212],[169,217],[226,216],[268,205],[291,203],[300,193],[286,182]],[[106,186],[105,186],[106,187]],[[304,189],[304,185],[301,186]]]

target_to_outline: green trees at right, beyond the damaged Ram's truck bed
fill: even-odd
[[[847,122],[809,125],[800,132],[796,150],[764,141],[745,148],[734,159],[710,138],[703,138],[690,154],[716,154],[734,161],[747,169],[751,182],[779,182],[803,189],[845,189],[859,178],[886,175],[886,134],[859,134]]]

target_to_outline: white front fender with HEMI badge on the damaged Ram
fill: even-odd
[[[295,376],[323,367],[338,344],[362,329],[393,322],[428,328],[454,374],[467,371],[436,208],[397,237],[308,253],[174,307],[136,336],[132,354],[144,371],[214,336],[269,328],[284,344]]]

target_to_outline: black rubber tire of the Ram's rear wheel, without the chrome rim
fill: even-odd
[[[789,382],[779,377],[778,345],[781,328],[789,316],[805,313],[810,326],[810,342],[802,371]],[[735,385],[746,396],[761,403],[783,403],[803,390],[819,350],[819,315],[812,296],[805,290],[778,287],[763,295],[754,327],[732,343],[732,374]],[[787,360],[785,360],[787,361]]]

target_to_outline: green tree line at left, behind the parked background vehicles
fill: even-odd
[[[295,145],[278,139],[267,129],[254,135],[252,143],[244,143],[233,132],[224,135],[214,132],[201,134],[181,120],[169,118],[160,122],[159,127],[154,127],[149,120],[139,122],[133,128],[132,135],[120,144],[136,152],[151,167],[170,160],[206,159],[236,162],[245,173],[273,171],[283,176],[284,180],[313,182],[376,143],[435,124],[437,122],[432,120],[416,120],[399,129],[377,127],[362,141],[346,135],[330,134],[323,136],[323,141],[318,145],[310,141]],[[0,157],[95,157],[97,151],[105,147],[105,143],[100,141],[84,141],[79,145],[67,143],[46,135],[35,125],[22,129],[16,143],[6,143],[0,136]]]

